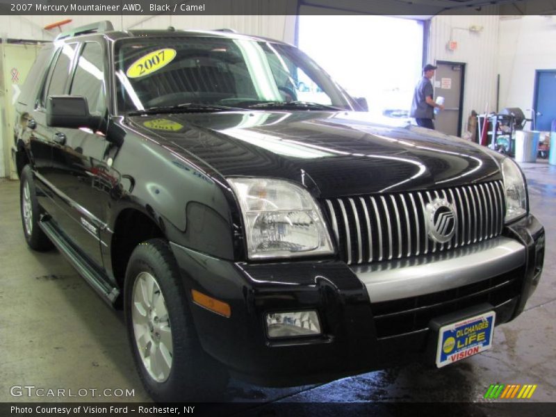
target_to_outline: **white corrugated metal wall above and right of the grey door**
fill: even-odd
[[[430,25],[428,60],[447,60],[466,63],[462,131],[472,110],[484,113],[496,111],[496,75],[498,72],[498,9],[491,15],[436,16]],[[469,31],[471,26],[482,26],[482,31]],[[448,41],[457,41],[457,49],[449,51]]]

